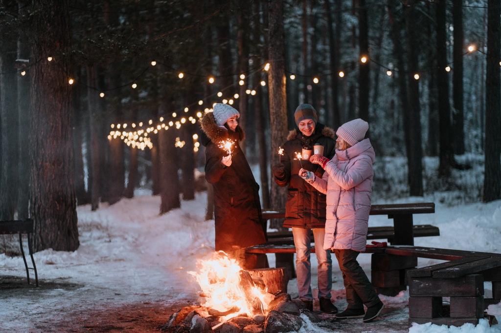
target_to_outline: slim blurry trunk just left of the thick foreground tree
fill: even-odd
[[[26,17],[28,8],[24,7],[28,1],[19,1],[19,17]],[[18,59],[30,58],[28,37],[21,31],[18,40]],[[19,128],[30,128],[30,71],[18,76],[18,114]],[[19,189],[18,189],[18,218],[30,217],[30,140],[23,130],[19,135]]]

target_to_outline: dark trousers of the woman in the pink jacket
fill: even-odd
[[[363,309],[364,304],[369,307],[381,301],[369,278],[357,261],[359,253],[352,249],[334,249],[339,268],[343,272],[348,308],[352,309]]]

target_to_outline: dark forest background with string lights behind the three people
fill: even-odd
[[[214,102],[241,114],[265,208],[285,206],[269,167],[300,103],[369,122],[380,197],[500,199],[500,17],[498,0],[0,1],[0,220],[75,250],[77,204],[140,187],[160,213],[206,189],[212,218],[197,119]]]

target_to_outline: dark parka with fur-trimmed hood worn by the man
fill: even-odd
[[[310,136],[305,136],[298,129],[289,132],[288,141],[284,144],[284,156],[281,158],[285,165],[285,177],[282,179],[275,177],[275,182],[279,186],[285,187],[289,185],[285,227],[325,228],[326,195],[319,192],[298,175],[301,164],[305,170],[315,172],[318,177],[322,177],[324,169],[309,160],[302,159],[300,162],[295,159],[295,153],[301,152],[305,144],[313,146],[315,143],[322,143],[324,145],[324,156],[332,159],[336,152],[335,134],[336,132],[332,128],[321,123],[317,123],[315,132]]]

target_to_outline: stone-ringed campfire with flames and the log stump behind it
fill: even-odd
[[[205,302],[173,313],[162,330],[285,333],[301,328],[303,314],[312,322],[320,321],[301,300],[292,300],[286,292],[289,279],[284,268],[247,271],[222,251],[199,261],[199,265],[199,272],[188,273],[196,278],[202,290],[200,297],[205,298]]]

